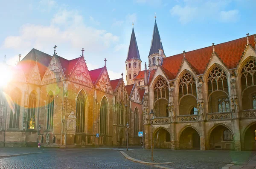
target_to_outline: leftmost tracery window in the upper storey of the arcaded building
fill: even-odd
[[[166,98],[169,100],[169,89],[163,77],[160,77],[154,85],[154,101],[159,98]]]

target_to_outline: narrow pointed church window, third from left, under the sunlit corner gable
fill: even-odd
[[[47,129],[53,127],[53,110],[54,110],[54,96],[52,92],[49,92],[47,96]]]

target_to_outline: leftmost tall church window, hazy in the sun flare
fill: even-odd
[[[13,107],[10,113],[10,124],[9,128],[19,128],[20,121],[20,100],[21,100],[21,92],[19,89],[15,89],[11,93],[11,98],[13,101]]]

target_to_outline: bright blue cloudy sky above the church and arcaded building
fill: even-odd
[[[68,60],[81,55],[89,70],[110,79],[125,74],[132,22],[148,63],[154,15],[166,57],[256,34],[255,0],[0,0],[0,61],[15,66],[32,49]],[[144,66],[142,66],[144,68]]]

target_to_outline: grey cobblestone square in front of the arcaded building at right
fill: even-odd
[[[124,151],[132,158],[151,162],[150,149],[134,149]],[[175,169],[221,169],[232,161],[245,163],[256,152],[237,152],[227,150],[169,150],[154,149],[154,162],[173,162],[171,164],[162,165]]]

